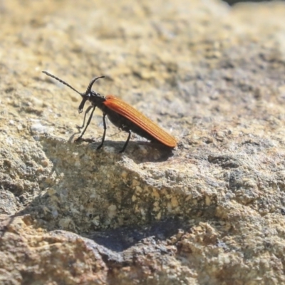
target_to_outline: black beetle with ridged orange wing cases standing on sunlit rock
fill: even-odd
[[[82,113],[86,101],[87,100],[90,101],[91,105],[86,109],[86,112],[84,114],[83,125],[78,128],[84,128],[86,115],[90,112],[90,110],[91,113],[86,123],[86,126],[83,129],[83,132],[81,133],[81,135],[78,137],[77,140],[80,140],[83,137],[84,133],[86,132],[86,129],[88,128],[88,125],[90,124],[94,110],[96,107],[98,107],[103,112],[104,133],[102,141],[100,145],[97,147],[97,149],[100,149],[100,147],[103,146],[105,140],[105,134],[107,129],[107,125],[105,122],[106,115],[110,120],[110,122],[113,123],[113,125],[115,125],[120,130],[124,130],[125,132],[128,133],[128,138],[125,141],[125,145],[123,145],[123,148],[122,150],[120,150],[120,152],[125,151],[125,148],[128,145],[128,142],[130,140],[130,135],[132,132],[140,135],[143,138],[146,138],[147,140],[150,140],[151,142],[159,142],[162,145],[165,145],[170,148],[176,147],[177,142],[172,135],[165,132],[165,130],[162,130],[162,128],[160,128],[157,124],[153,123],[152,120],[145,117],[145,115],[140,113],[138,110],[135,110],[135,108],[133,108],[131,105],[125,103],[125,101],[113,95],[107,95],[104,97],[103,95],[100,95],[100,93],[96,93],[94,90],[92,90],[92,86],[95,83],[95,81],[97,81],[100,78],[104,78],[105,76],[99,76],[93,78],[92,81],[90,81],[86,89],[86,92],[80,93],[78,92],[78,90],[70,86],[68,83],[66,83],[65,81],[61,80],[56,76],[53,76],[51,73],[48,73],[47,71],[43,71],[43,73],[63,83],[64,85],[68,86],[72,90],[76,91],[76,93],[81,95],[82,101],[78,107],[79,113]]]

